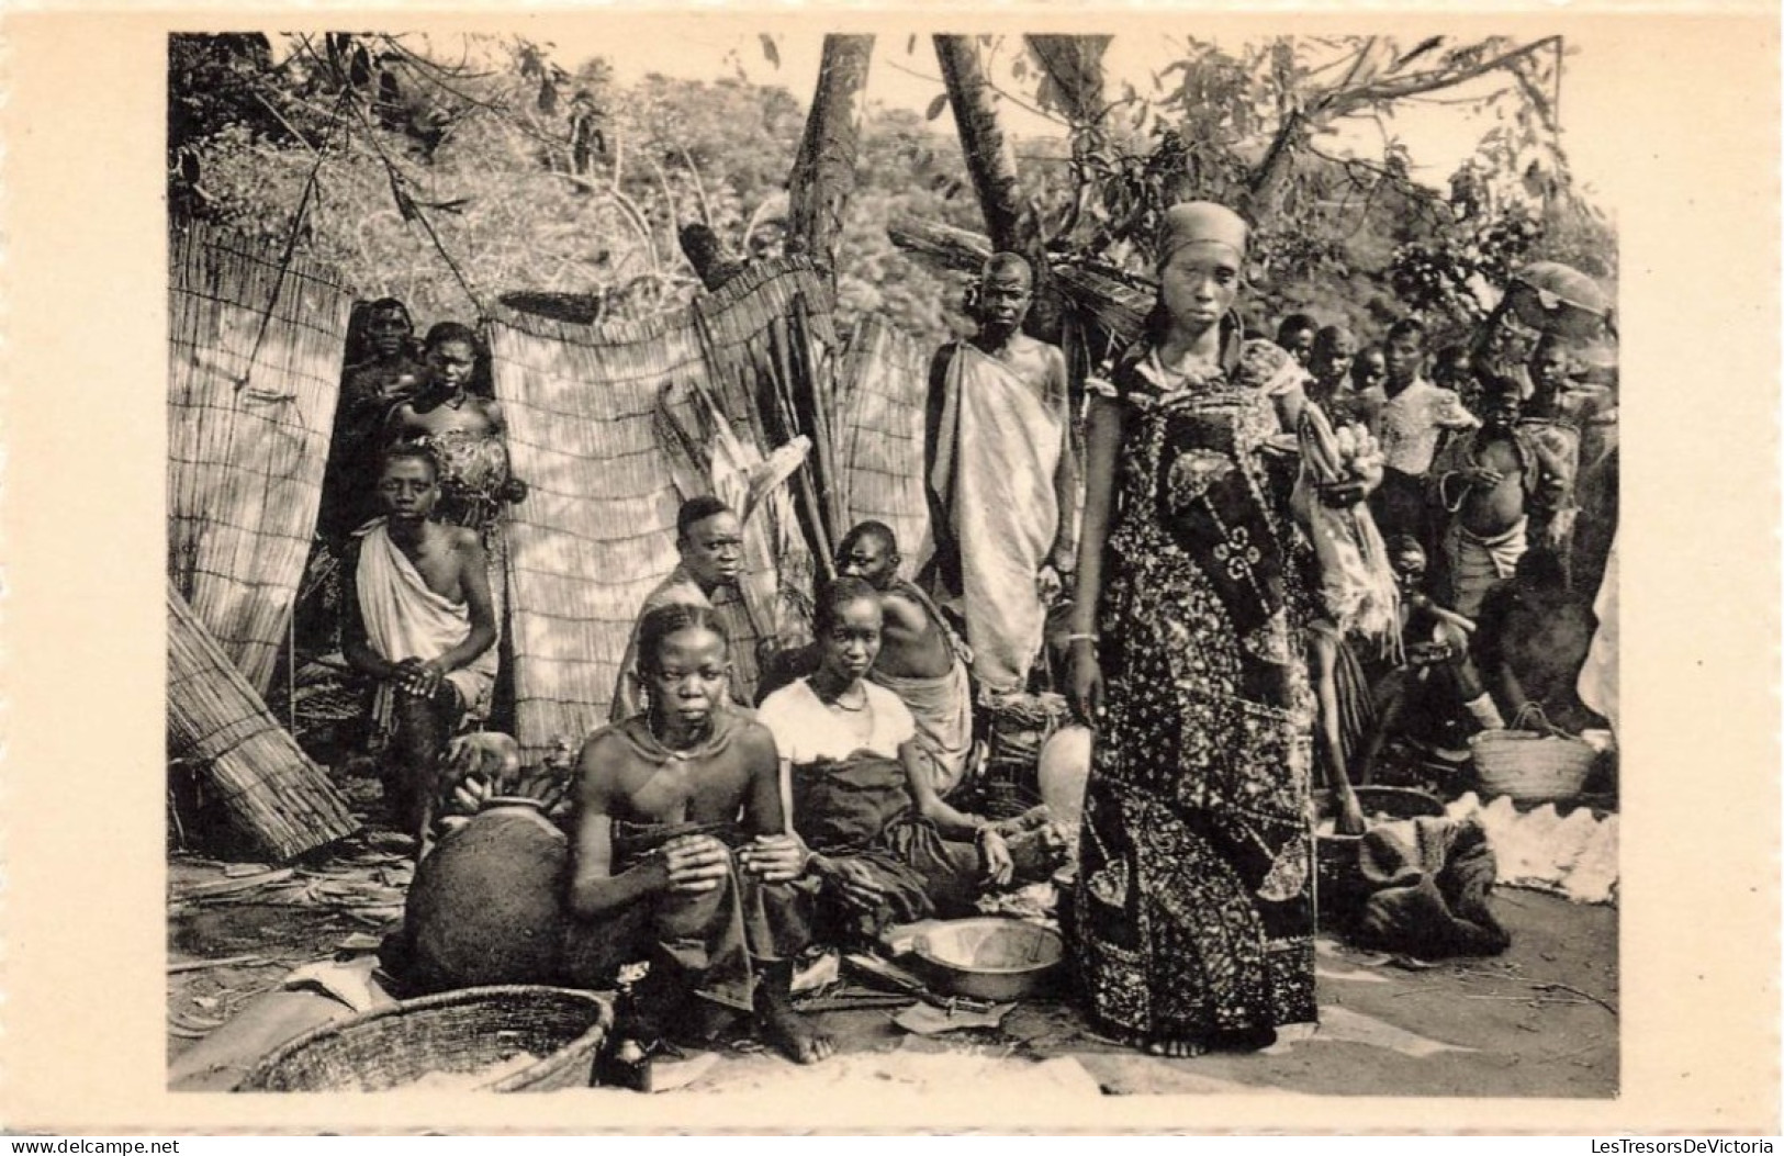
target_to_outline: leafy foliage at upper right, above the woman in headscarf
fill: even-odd
[[[1149,93],[1126,82],[1101,116],[1070,116],[1079,193],[1053,246],[1144,271],[1165,207],[1217,200],[1256,225],[1265,310],[1374,328],[1413,309],[1465,325],[1509,262],[1615,266],[1615,230],[1572,189],[1559,146],[1561,57],[1559,39],[1190,39]],[[1433,93],[1495,118],[1449,196],[1413,180],[1392,132],[1397,107]],[[1072,112],[1060,86],[1035,98]],[[1359,155],[1365,128],[1379,157]]]

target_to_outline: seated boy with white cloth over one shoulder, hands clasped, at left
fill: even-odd
[[[376,721],[392,724],[385,792],[416,838],[426,837],[435,772],[467,714],[496,681],[496,612],[475,530],[428,516],[439,467],[419,446],[387,450],[378,517],[353,533],[343,583],[343,653],[378,680]]]

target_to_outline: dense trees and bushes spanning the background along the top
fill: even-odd
[[[1479,54],[1502,48],[1452,50],[1441,66],[1466,75]],[[1538,71],[1491,96],[1509,93],[1516,114],[1483,139],[1449,194],[1413,184],[1392,141],[1386,162],[1358,161],[1327,152],[1313,130],[1290,141],[1295,162],[1277,173],[1272,157],[1286,150],[1272,146],[1297,127],[1283,109],[1311,123],[1324,91],[1317,59],[1333,50],[1288,37],[1231,52],[1190,41],[1149,91],[1115,86],[1095,121],[1072,114],[1072,93],[1033,52],[1006,50],[999,84],[1072,125],[1017,150],[1051,248],[1140,269],[1160,205],[1181,194],[1238,202],[1267,184],[1254,271],[1263,310],[1374,330],[1418,309],[1461,326],[1529,257],[1615,280],[1615,234],[1566,186]],[[1370,52],[1381,54],[1375,41],[1358,61]],[[1418,55],[1383,57],[1374,87],[1352,66],[1350,87],[1329,89],[1352,103],[1326,96],[1329,116],[1392,109],[1397,77],[1431,75],[1411,62]],[[1536,59],[1515,66],[1534,70]],[[1559,54],[1547,68],[1559,70]],[[175,36],[169,211],[289,243],[366,296],[410,301],[423,321],[473,318],[514,291],[578,294],[603,318],[639,318],[698,289],[678,227],[705,221],[737,255],[772,232],[764,225],[785,212],[808,98],[742,78],[623,87],[599,59],[566,70],[519,39],[448,50],[396,36]],[[846,316],[880,312],[924,339],[947,332],[958,294],[899,253],[885,225],[915,216],[981,228],[960,144],[935,128],[917,112],[867,107],[837,277]]]

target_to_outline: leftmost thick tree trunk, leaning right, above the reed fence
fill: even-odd
[[[792,237],[824,266],[837,269],[837,239],[842,235],[849,193],[855,191],[855,157],[860,146],[860,95],[867,87],[872,36],[826,36],[824,61],[817,70],[817,93],[805,137],[789,178]]]

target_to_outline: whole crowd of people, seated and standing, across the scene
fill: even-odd
[[[416,350],[401,305],[375,303],[326,532],[351,576],[343,653],[380,685],[421,849],[392,972],[610,987],[646,962],[615,1083],[728,1015],[822,1060],[790,1001],[808,949],[1061,865],[1045,808],[992,819],[972,790],[987,714],[1054,689],[1094,731],[1067,840],[1092,1024],[1188,1056],[1313,1020],[1315,787],[1354,833],[1354,783],[1393,742],[1604,726],[1577,685],[1615,533],[1615,375],[1556,334],[1516,348],[1504,319],[1434,353],[1415,318],[1379,344],[1306,314],[1247,332],[1247,244],[1220,205],[1170,209],[1145,332],[1083,391],[1024,332],[1031,268],[995,255],[978,332],[931,366],[917,573],[888,526],[855,526],[815,642],[744,685],[717,612],[744,524],[683,503],[680,564],[567,769],[485,772],[450,746],[487,710],[496,514],[524,487],[469,387],[473,334]]]

